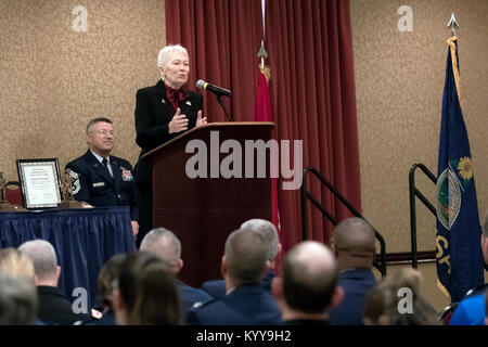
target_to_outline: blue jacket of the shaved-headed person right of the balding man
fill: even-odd
[[[363,325],[367,293],[376,284],[370,268],[357,268],[339,274],[338,284],[344,288],[344,299],[329,313],[332,325]]]

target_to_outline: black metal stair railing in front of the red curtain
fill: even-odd
[[[323,216],[325,216],[334,226],[337,226],[338,221],[337,219],[332,216],[329,211],[324,209],[324,207],[313,197],[311,192],[307,191],[307,175],[312,174],[314,177],[317,177],[320,182],[325,185],[334,195],[337,197],[346,207],[347,209],[355,215],[358,218],[364,219],[367,222],[368,220],[362,217],[362,215],[335,189],[334,185],[332,185],[331,182],[329,182],[323,176],[314,168],[306,168],[304,169],[304,176],[301,181],[301,240],[308,240],[308,220],[307,220],[307,201],[310,201],[313,206],[316,206]],[[371,223],[370,223],[371,226]],[[373,227],[372,227],[373,228]],[[383,277],[386,275],[386,246],[385,246],[385,240],[383,236],[373,228],[374,235],[380,242],[380,261],[377,259],[374,260],[373,266],[380,270]]]

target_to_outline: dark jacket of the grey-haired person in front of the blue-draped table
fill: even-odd
[[[72,304],[53,286],[37,286],[39,300],[38,318],[47,324],[73,325],[77,321],[88,321],[90,316],[85,313],[75,313]]]

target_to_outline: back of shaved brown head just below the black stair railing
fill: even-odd
[[[331,247],[339,268],[372,267],[375,253],[374,230],[362,218],[344,219],[332,233]]]

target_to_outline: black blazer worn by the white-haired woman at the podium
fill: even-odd
[[[188,129],[196,126],[198,111],[203,111],[203,97],[201,93],[187,90],[184,100],[179,107],[182,115],[189,118]],[[168,126],[175,116],[176,110],[166,97],[166,87],[163,80],[155,86],[139,89],[136,93],[136,142],[141,147],[141,154],[150,152],[163,143],[178,137],[181,132],[169,133]],[[151,184],[151,164],[139,160],[136,170],[138,185]]]

